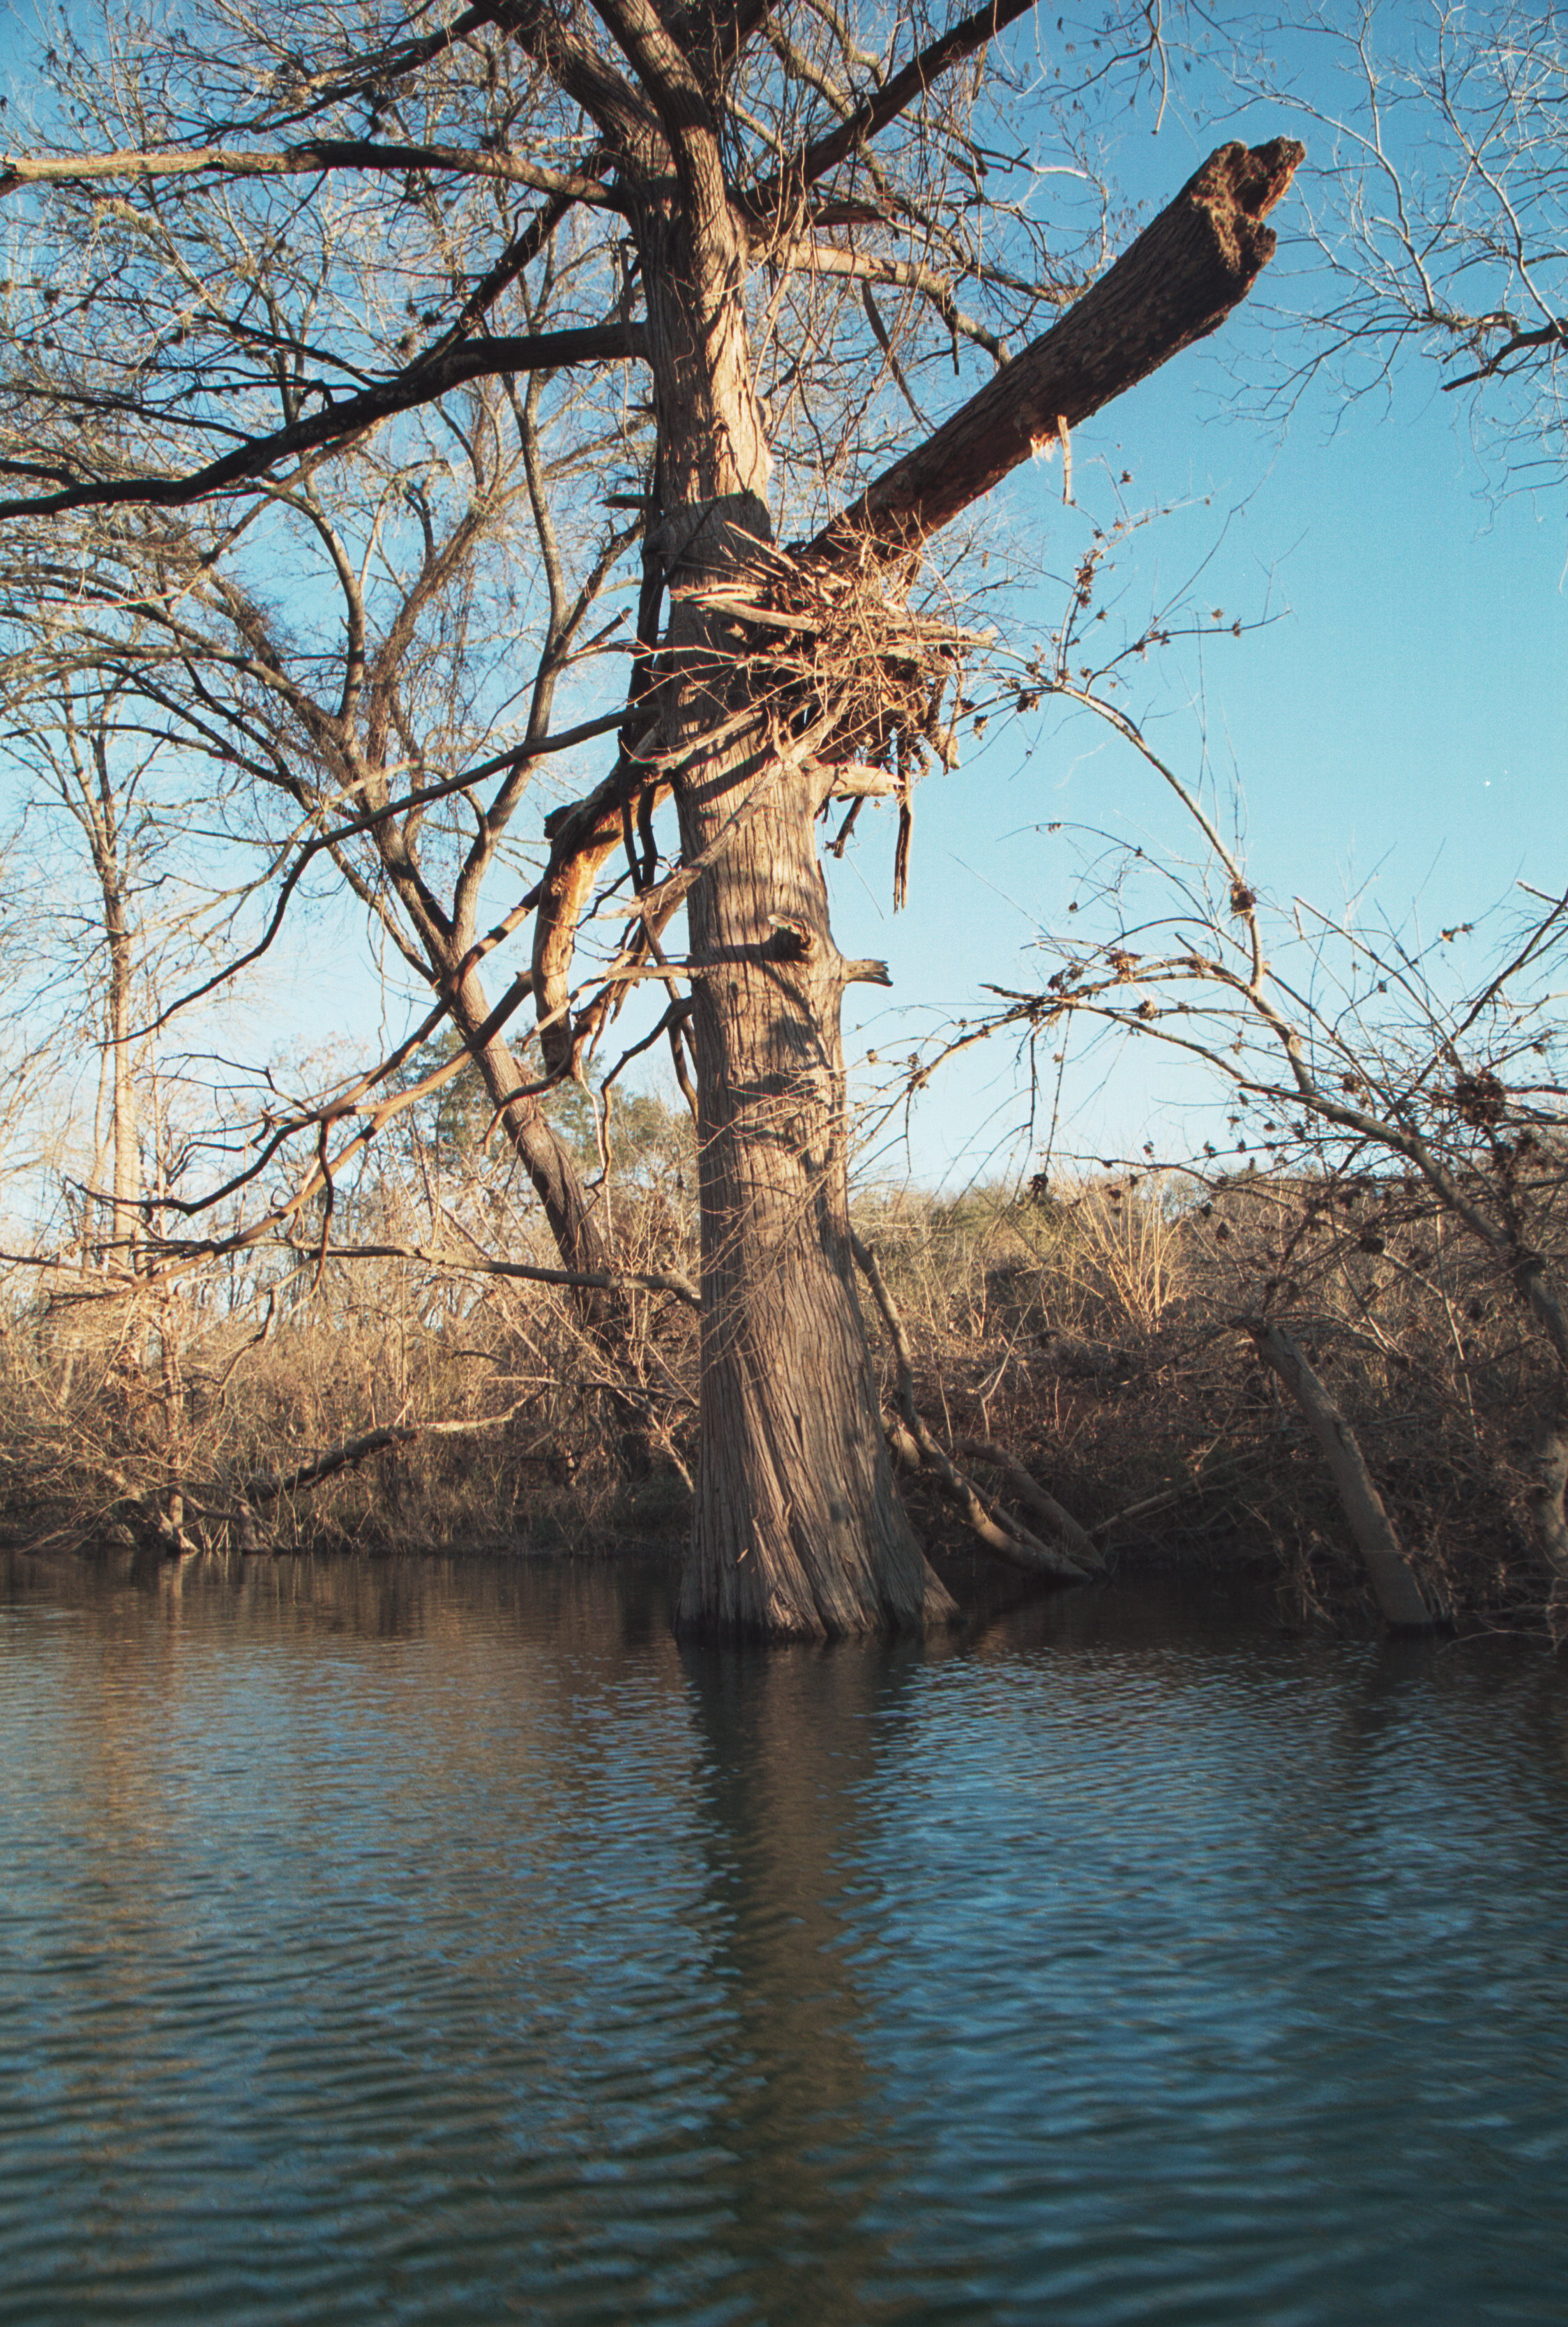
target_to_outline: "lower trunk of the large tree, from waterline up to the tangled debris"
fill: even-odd
[[[686,854],[724,800],[682,787]],[[691,903],[703,1217],[703,1459],[684,1629],[777,1636],[952,1615],[882,1436],[854,1282],[842,973],[803,773]]]

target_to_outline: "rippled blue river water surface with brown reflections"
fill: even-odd
[[[14,1564],[0,2318],[1568,2315],[1568,1680]]]

